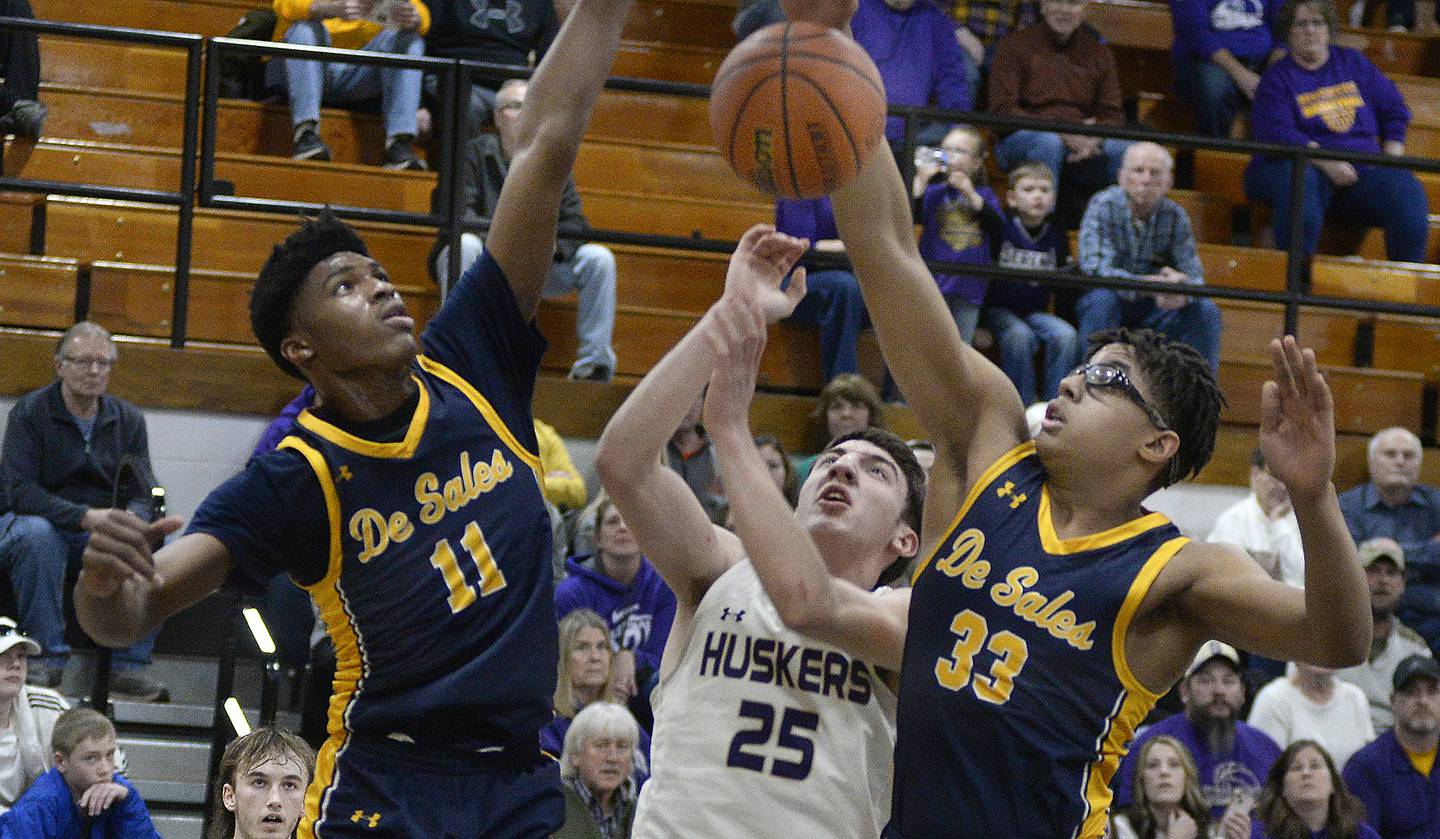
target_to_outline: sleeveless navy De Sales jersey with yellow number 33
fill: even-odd
[[[890,836],[1104,835],[1110,779],[1158,697],[1130,619],[1188,541],[1148,514],[1061,540],[1022,443],[975,482],[914,574]]]

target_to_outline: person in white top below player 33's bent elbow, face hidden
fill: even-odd
[[[1341,764],[1375,738],[1365,692],[1336,679],[1335,671],[1305,662],[1260,688],[1250,724],[1282,747],[1313,740]]]

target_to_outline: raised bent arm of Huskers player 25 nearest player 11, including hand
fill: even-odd
[[[783,278],[804,250],[804,240],[756,225],[740,239],[729,271],[732,275],[766,271]],[[740,555],[734,537],[710,524],[684,479],[661,462],[665,442],[710,380],[719,344],[713,332],[723,328],[716,309],[732,305],[730,285],[727,279],[726,298],[706,312],[615,412],[595,456],[600,484],[683,612],[693,610]],[[805,294],[804,278],[793,285],[791,296],[798,301]]]

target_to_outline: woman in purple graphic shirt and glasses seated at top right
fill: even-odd
[[[1276,33],[1290,47],[1260,76],[1250,124],[1263,142],[1335,151],[1404,154],[1410,108],[1395,83],[1359,50],[1335,46],[1331,0],[1286,0]],[[1276,248],[1290,246],[1290,158],[1256,155],[1246,196],[1272,207]],[[1302,249],[1315,253],[1329,213],[1351,226],[1382,227],[1385,258],[1424,262],[1426,194],[1405,168],[1312,160],[1305,167]]]

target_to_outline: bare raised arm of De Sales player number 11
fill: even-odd
[[[504,271],[526,318],[554,260],[564,180],[600,85],[615,60],[631,0],[579,0],[530,79],[516,150],[485,249]]]

